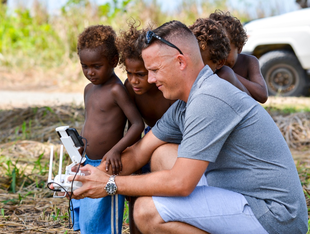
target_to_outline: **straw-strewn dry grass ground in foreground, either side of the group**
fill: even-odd
[[[46,188],[50,146],[60,151],[55,128],[82,128],[82,106],[2,110],[0,115],[0,233],[79,233],[69,229],[68,201]],[[273,116],[292,149],[305,191],[310,169],[310,113]],[[301,154],[303,150],[304,154]],[[301,156],[303,155],[303,156]],[[54,169],[58,168],[57,158]],[[67,156],[63,164],[69,165]],[[15,173],[15,174],[14,174]],[[15,175],[15,193],[12,183]],[[306,195],[310,206],[310,195]],[[59,210],[58,210],[59,209]],[[129,233],[128,224],[123,233]]]

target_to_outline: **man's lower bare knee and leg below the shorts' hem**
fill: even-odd
[[[134,219],[139,230],[144,233],[208,234],[197,227],[183,222],[167,222],[160,217],[152,197],[139,197],[135,202]]]

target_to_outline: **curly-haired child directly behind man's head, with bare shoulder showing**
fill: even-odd
[[[233,70],[224,66],[230,51],[225,29],[210,18],[199,18],[188,28],[197,38],[203,63],[208,65],[220,78],[250,95],[249,91],[237,79]]]

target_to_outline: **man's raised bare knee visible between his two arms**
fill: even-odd
[[[170,170],[178,156],[178,144],[166,143],[159,146],[151,157],[151,171]]]

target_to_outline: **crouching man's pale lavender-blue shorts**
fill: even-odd
[[[153,201],[165,222],[188,223],[212,234],[268,234],[240,193],[201,185],[188,197],[153,197]]]

